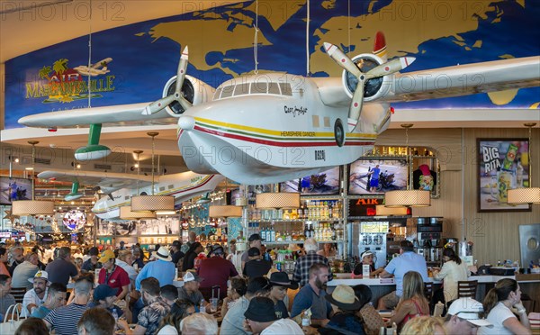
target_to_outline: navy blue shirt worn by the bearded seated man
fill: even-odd
[[[311,308],[312,319],[329,319],[330,312],[332,312],[332,305],[324,297],[326,294],[324,290],[320,290],[319,295],[315,294],[310,284],[303,286],[294,297],[291,317],[293,318],[303,310]]]

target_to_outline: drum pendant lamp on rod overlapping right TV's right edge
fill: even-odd
[[[431,205],[431,193],[429,191],[412,188],[412,153],[409,153],[409,129],[412,126],[411,123],[401,124],[401,128],[405,129],[407,167],[408,171],[410,171],[407,180],[407,189],[386,192],[384,194],[384,205],[386,207],[428,207]]]

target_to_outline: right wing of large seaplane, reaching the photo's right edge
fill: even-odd
[[[540,56],[396,74],[377,102],[402,102],[540,86]]]

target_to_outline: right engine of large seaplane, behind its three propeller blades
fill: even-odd
[[[363,73],[384,63],[383,59],[372,53],[363,53],[351,59]],[[345,92],[352,99],[355,94],[358,79],[347,70],[342,75]],[[390,76],[377,77],[365,82],[364,101],[372,101],[380,96],[384,96],[390,90]]]

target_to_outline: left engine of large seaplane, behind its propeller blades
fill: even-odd
[[[175,94],[176,76],[170,78],[163,88],[163,97]],[[213,88],[195,77],[186,75],[182,85],[182,95],[192,104],[201,104],[209,100],[213,95]],[[173,117],[180,117],[185,111],[177,101],[165,107],[166,113]]]

